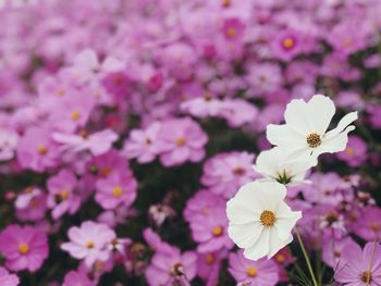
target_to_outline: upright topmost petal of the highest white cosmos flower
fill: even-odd
[[[333,101],[329,97],[317,95],[308,101],[307,105],[310,132],[323,135],[335,113]]]

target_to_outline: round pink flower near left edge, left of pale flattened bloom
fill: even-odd
[[[20,138],[16,151],[23,167],[40,173],[56,166],[59,158],[58,145],[47,127],[28,128]]]

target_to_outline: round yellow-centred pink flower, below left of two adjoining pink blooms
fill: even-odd
[[[119,204],[130,207],[136,198],[137,182],[130,169],[100,178],[96,184],[96,201],[106,210],[116,208]]]

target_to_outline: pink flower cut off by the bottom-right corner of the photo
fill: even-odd
[[[368,243],[361,251],[358,245],[347,244],[342,250],[334,277],[343,285],[380,285],[381,246],[378,243]]]

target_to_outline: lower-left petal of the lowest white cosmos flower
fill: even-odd
[[[229,237],[241,248],[253,246],[261,236],[263,226],[259,222],[247,224],[231,224],[228,227]]]

